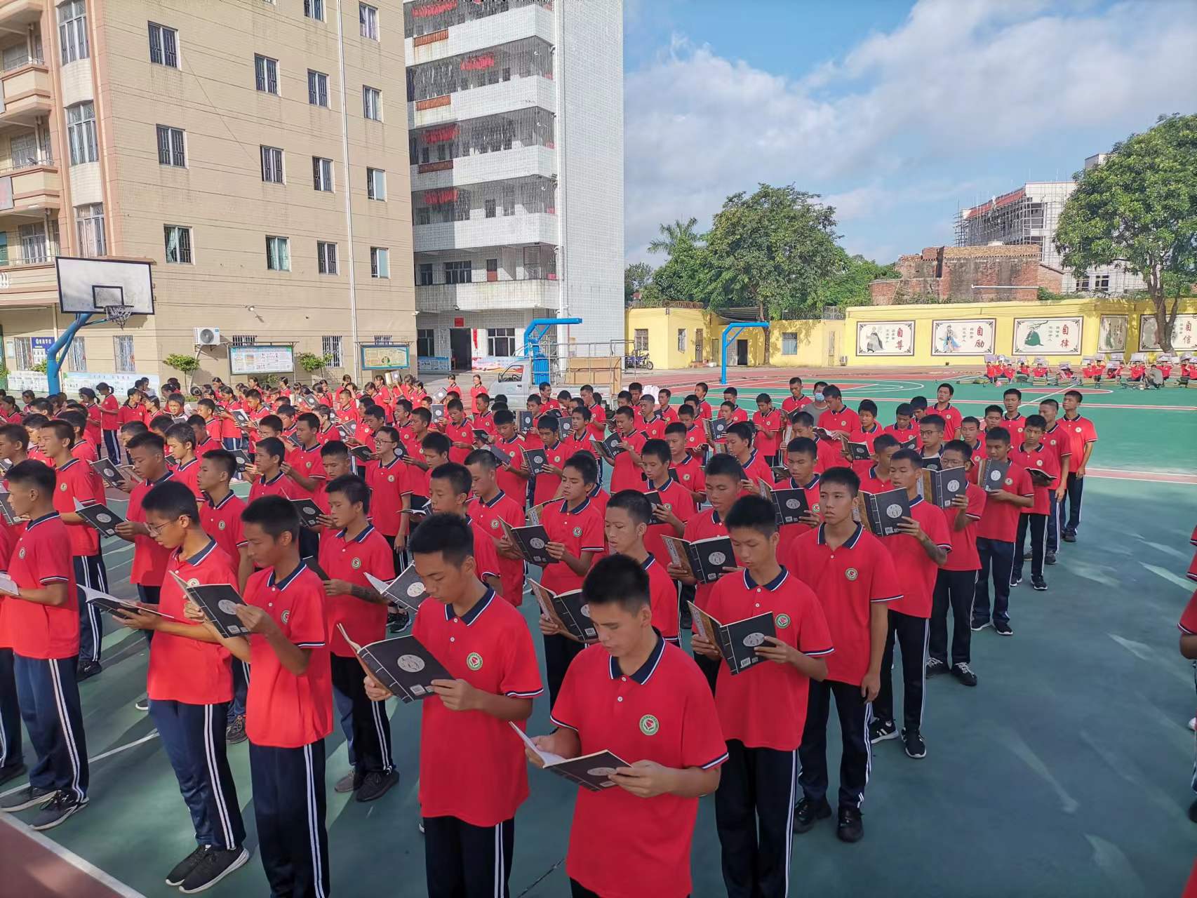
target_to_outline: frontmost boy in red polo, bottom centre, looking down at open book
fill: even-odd
[[[614,788],[578,789],[571,894],[683,898],[698,799],[716,790],[728,757],[715,702],[694,662],[654,630],[649,578],[633,559],[602,559],[584,595],[600,645],[570,667],[551,715],[559,729],[533,741],[565,758],[606,748],[631,766],[610,775]]]

